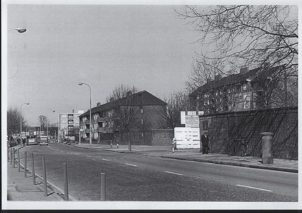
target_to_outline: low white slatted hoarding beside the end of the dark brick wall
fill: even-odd
[[[177,149],[199,149],[200,132],[199,128],[175,127],[174,137]]]

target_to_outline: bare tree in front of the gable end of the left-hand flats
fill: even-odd
[[[140,102],[137,96],[136,87],[120,85],[116,87],[107,101],[110,102],[110,123],[114,130],[129,132],[140,125]]]

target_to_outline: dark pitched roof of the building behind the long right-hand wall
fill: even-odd
[[[193,91],[189,96],[196,94],[198,91],[206,91],[213,88],[219,88],[227,85],[234,85],[237,83],[242,83],[247,79],[251,79],[252,82],[260,81],[260,79],[264,79],[274,72],[276,72],[281,66],[276,66],[273,68],[269,68],[267,70],[260,70],[260,68],[255,68],[253,70],[249,70],[249,72],[231,74],[229,76],[223,77],[219,80],[213,80],[205,83],[201,87],[197,88]]]

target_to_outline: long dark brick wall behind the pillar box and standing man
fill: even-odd
[[[273,132],[274,158],[298,159],[298,109],[281,108],[201,116],[208,121],[211,152],[262,156],[261,132]]]

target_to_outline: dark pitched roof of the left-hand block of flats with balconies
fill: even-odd
[[[150,94],[148,91],[144,90],[144,91],[139,91],[136,94],[132,94],[131,96],[120,98],[118,100],[114,100],[112,102],[108,102],[105,104],[101,104],[100,106],[93,107],[91,109],[91,114],[93,115],[97,112],[108,111],[115,106],[116,102],[123,103],[124,101],[130,98],[132,99],[130,103],[131,106],[150,106],[150,105],[165,106],[167,104],[166,102],[160,100],[160,98],[157,98],[152,94]],[[79,117],[84,117],[86,115],[89,115],[89,110],[86,111],[86,113],[81,114]]]

